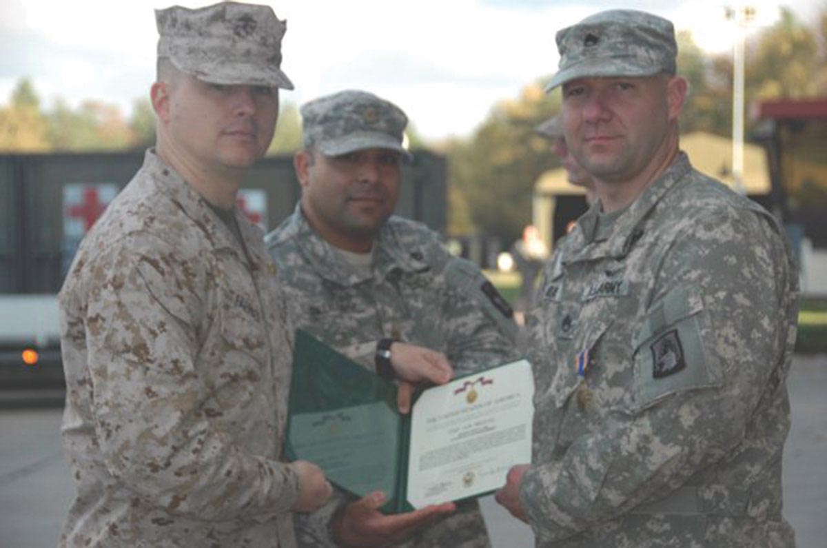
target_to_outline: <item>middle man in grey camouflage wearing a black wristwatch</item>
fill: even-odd
[[[514,357],[511,310],[480,270],[422,224],[391,216],[409,156],[404,113],[361,91],[316,99],[301,113],[301,201],[266,238],[297,323],[370,369],[382,339],[392,360],[418,345],[447,355],[457,375]],[[297,517],[299,545],[395,546],[413,533],[403,546],[489,546],[476,502],[423,527],[452,505],[385,517],[381,499],[347,509],[343,493],[334,499]]]

